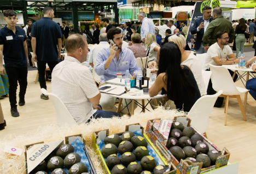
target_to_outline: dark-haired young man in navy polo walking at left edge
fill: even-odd
[[[24,29],[16,27],[17,17],[13,10],[6,10],[3,14],[7,25],[0,30],[0,73],[4,75],[6,71],[9,78],[11,116],[19,117],[16,91],[19,81],[19,106],[24,106],[27,89],[27,37]],[[3,67],[3,56],[5,69]]]

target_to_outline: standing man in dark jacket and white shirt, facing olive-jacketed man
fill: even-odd
[[[206,53],[205,48],[202,45],[203,34],[206,32],[206,29],[210,22],[212,22],[212,8],[210,6],[205,6],[202,9],[203,16],[199,19],[196,19],[193,28],[191,29],[191,34],[197,34],[195,39],[195,50],[196,54]]]

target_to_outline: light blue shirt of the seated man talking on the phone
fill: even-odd
[[[130,49],[122,48],[118,61],[117,57],[114,57],[108,69],[105,70],[106,60],[109,56],[109,49],[102,49],[97,53],[95,72],[97,75],[101,76],[101,81],[108,81],[117,78],[118,70],[122,73],[123,79],[126,70],[129,70],[131,75],[133,75],[133,73],[135,73],[135,76],[137,75],[138,65],[136,58]]]

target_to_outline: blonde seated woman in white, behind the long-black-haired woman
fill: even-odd
[[[207,89],[205,88],[205,82],[202,77],[201,63],[194,55],[193,51],[185,51],[185,46],[187,44],[185,37],[179,33],[173,34],[168,38],[168,41],[173,41],[179,46],[179,50],[181,50],[182,54],[181,65],[188,65],[191,68],[201,95],[206,95]]]

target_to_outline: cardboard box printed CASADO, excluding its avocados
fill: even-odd
[[[96,170],[94,168],[94,165],[92,164],[92,160],[90,158],[88,150],[85,147],[84,136],[82,134],[66,136],[65,142],[66,144],[71,144],[77,139],[81,140],[84,145],[83,150],[86,157],[88,158],[89,165],[90,165],[89,173],[95,174]],[[33,171],[39,164],[41,165],[42,162],[45,162],[47,164],[48,161],[45,161],[45,158],[47,158],[48,155],[51,154],[53,151],[57,151],[57,149],[59,149],[63,144],[64,144],[64,140],[47,142],[47,143],[44,143],[42,141],[42,142],[33,143],[31,145],[25,145],[24,152],[25,152],[25,161],[26,161],[26,174],[31,174],[31,171]]]

